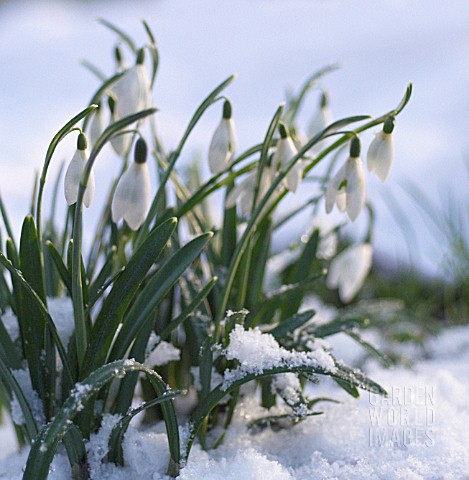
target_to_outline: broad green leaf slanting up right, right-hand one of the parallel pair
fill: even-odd
[[[135,336],[162,302],[171,287],[189,265],[200,255],[213,233],[208,232],[191,240],[178,250],[153,276],[142,290],[129,312],[114,342],[110,359],[122,358]]]

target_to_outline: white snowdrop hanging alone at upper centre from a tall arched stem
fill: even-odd
[[[236,129],[231,115],[231,103],[229,100],[225,100],[223,117],[213,134],[208,149],[208,164],[214,175],[223,172],[231,165],[236,151]]]

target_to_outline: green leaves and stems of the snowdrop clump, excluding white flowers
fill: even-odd
[[[100,22],[136,55],[139,49],[134,40],[109,22]],[[153,85],[159,53],[149,26],[145,22],[143,26],[152,67],[149,84]],[[122,440],[130,420],[141,411],[152,411],[166,424],[168,474],[177,476],[181,461],[187,460],[198,434],[202,444],[208,446],[207,432],[229,426],[238,399],[242,398],[239,388],[248,382],[262,386],[264,404],[283,402],[287,408],[285,414],[267,417],[270,424],[280,424],[285,419],[295,423],[318,413],[313,407],[319,400],[309,399],[304,393],[305,385],[315,383],[318,375],[331,377],[353,396],[358,396],[358,389],[385,393],[362,372],[337,362],[320,343],[324,337],[345,331],[367,351],[379,356],[357,332],[366,324],[363,317],[343,316],[339,312],[336,319],[319,324],[315,311],[304,308],[307,293],[323,291],[330,263],[330,257],[320,255],[323,232],[319,227],[299,244],[299,255],[284,271],[283,281],[281,277],[277,285],[269,285],[268,281],[272,276],[269,265],[274,258],[272,241],[282,224],[276,214],[288,193],[285,183],[290,172],[303,165],[302,177],[317,181],[320,188],[319,196],[316,192],[304,199],[302,206],[289,214],[293,217],[311,206],[317,207],[324,193],[328,175],[313,177],[309,172],[323,161],[332,165],[334,157],[331,159],[330,153],[340,150],[360,132],[382,124],[389,115],[398,115],[410,98],[409,86],[399,106],[378,118],[352,116],[325,126],[300,146],[286,165],[272,166],[271,152],[279,142],[279,122],[298,131],[298,112],[307,93],[334,68],[326,67],[311,76],[297,95],[276,109],[263,141],[238,153],[205,182],[201,180],[203,170],[199,172],[194,167],[187,178],[178,170],[177,161],[194,127],[209,108],[225,98],[225,89],[234,76],[220,83],[202,101],[174,151],[164,151],[154,128],[149,134],[142,133],[145,124],[152,122],[150,117],[156,109],[144,105],[124,118],[114,118],[94,143],[76,186],[76,203],[69,208],[64,225],[56,229],[54,211],[50,220],[42,219],[42,198],[50,163],[56,160],[55,150],[70,133],[89,133],[94,104],[104,108],[106,97],[114,95],[113,87],[125,78],[127,71],[113,72],[106,78],[99,73],[102,84],[92,96],[92,105],[67,122],[50,144],[34,202],[35,217],[26,216],[18,244],[0,199],[7,235],[0,252],[0,308],[3,314],[11,310],[19,329],[19,338],[14,339],[3,320],[0,322],[2,395],[4,391],[1,400],[7,408],[12,401],[18,402],[23,415],[23,423],[17,425],[18,437],[32,445],[24,478],[46,478],[60,442],[66,447],[74,476],[87,478],[86,440],[100,428],[103,416],[110,413],[120,414],[121,419],[109,439],[109,461],[125,463]],[[92,70],[98,71],[94,67]],[[352,124],[359,125],[353,132],[340,131]],[[130,126],[135,129],[126,130]],[[129,133],[133,137],[145,136],[152,145],[158,189],[143,223],[134,232],[125,223],[119,225],[112,220],[115,182],[96,231],[92,232],[94,242],[85,251],[82,214],[92,167],[106,143]],[[337,139],[324,144],[332,135]],[[325,146],[315,152],[320,142]],[[121,173],[129,162],[131,159],[123,159]],[[274,169],[271,183],[264,185],[263,174],[269,168]],[[227,206],[226,199],[246,174],[253,173],[249,212],[240,213],[236,206]],[[55,192],[58,182],[59,179]],[[170,206],[169,198],[175,199],[174,205]],[[210,218],[208,208],[209,202],[218,198],[223,199],[220,225]],[[74,322],[74,331],[66,343],[50,308],[52,297],[60,295],[73,303],[73,320],[69,320]],[[227,354],[240,325],[245,332],[259,335],[261,341],[273,342],[279,359],[265,368],[243,370],[246,366],[236,357],[236,351],[233,357]],[[260,330],[250,330],[253,327]],[[152,352],[157,353],[163,342],[179,350],[179,359],[173,359],[169,365],[160,360],[154,361],[156,365],[149,364]],[[318,358],[329,359],[330,364],[322,364]],[[41,421],[33,412],[24,386],[15,377],[15,371],[21,369],[27,371],[42,405]],[[143,372],[145,378],[138,372]],[[298,380],[295,401],[281,388],[272,389],[274,379],[286,373]],[[235,377],[230,380],[230,375]],[[199,382],[194,378],[197,376]],[[137,393],[139,382],[143,402],[129,410],[134,400],[142,400]],[[197,397],[190,412],[190,436],[184,458],[178,427],[187,417],[178,412],[176,397],[183,392],[176,389],[191,390]],[[259,423],[263,421],[267,422],[264,419]]]

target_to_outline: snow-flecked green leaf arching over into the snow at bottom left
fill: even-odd
[[[57,412],[54,419],[41,429],[36,441],[31,447],[23,479],[45,480],[49,474],[49,466],[54,458],[58,443],[67,433],[70,421],[83,409],[86,402],[110,381],[115,378],[121,378],[129,372],[137,371],[146,374],[157,390],[158,395],[166,392],[166,383],[155,371],[131,360],[120,360],[95,370],[81,383],[76,384],[74,390],[67,400],[65,400],[62,408]],[[179,435],[177,422],[174,424],[174,406],[171,402],[165,402],[163,411],[166,412],[165,420],[167,422],[168,420],[171,421],[171,429],[168,430],[167,433],[171,452],[170,466],[174,468],[175,466],[179,466]],[[172,412],[170,419],[168,419],[168,411]],[[177,444],[175,443],[176,438]]]

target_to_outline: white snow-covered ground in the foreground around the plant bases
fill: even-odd
[[[195,445],[179,478],[469,479],[469,327],[448,330],[429,344],[428,351],[431,358],[418,361],[412,370],[368,365],[370,376],[387,389],[388,398],[363,393],[355,400],[321,383],[310,391],[311,396],[328,395],[341,403],[318,404],[324,415],[290,429],[249,431],[249,421],[265,416],[266,411],[247,396],[223,445],[211,451]],[[347,356],[351,354],[349,344]],[[112,425],[113,418],[108,417],[88,445],[92,479],[167,478],[162,424],[144,431],[129,429],[124,468],[101,462]],[[11,454],[5,427],[0,429],[0,439],[0,478],[20,479],[27,450]],[[65,454],[56,456],[49,478],[70,478]]]

